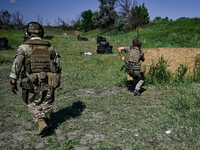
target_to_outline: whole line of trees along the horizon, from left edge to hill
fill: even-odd
[[[89,31],[101,28],[103,31],[129,32],[136,27],[149,23],[149,13],[145,4],[138,5],[137,0],[98,0],[99,10],[83,11],[76,20],[67,23],[60,17],[55,19],[56,26],[63,30]],[[37,22],[43,25],[43,18],[37,16]],[[17,11],[10,14],[7,10],[0,12],[0,25],[25,26],[23,15]],[[46,20],[46,26],[50,23]]]

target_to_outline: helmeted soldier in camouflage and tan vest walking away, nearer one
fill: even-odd
[[[16,51],[11,69],[11,91],[17,94],[17,80],[21,75],[23,101],[28,105],[33,120],[39,126],[38,134],[48,131],[54,102],[54,91],[60,85],[59,55],[48,41],[43,41],[43,27],[30,22],[27,26],[30,40]]]

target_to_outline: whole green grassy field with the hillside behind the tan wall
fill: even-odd
[[[139,28],[139,33],[143,48],[200,48],[197,18],[153,22]],[[135,97],[133,87],[127,86],[126,73],[120,71],[123,62],[117,50],[131,45],[135,31],[101,34],[93,30],[81,35],[89,41],[52,33],[54,38],[49,41],[61,55],[62,83],[56,90],[52,132],[38,137],[21,89],[15,96],[9,87],[11,62],[23,35],[0,31],[9,40],[9,49],[0,54],[0,149],[200,149],[200,73],[195,79],[184,71],[169,77],[163,69],[158,72],[163,80],[153,80],[155,74],[146,73],[143,93]],[[106,37],[113,54],[96,53],[98,35]]]

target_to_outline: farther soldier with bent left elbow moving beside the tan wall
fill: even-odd
[[[119,47],[119,55],[122,60],[126,63],[126,72],[133,78],[136,86],[134,94],[140,96],[140,88],[144,84],[144,73],[141,71],[141,62],[145,60],[144,53],[140,50],[140,42],[137,39],[132,41],[133,47]],[[127,58],[122,54],[122,51],[128,53]],[[145,68],[146,69],[146,68]]]

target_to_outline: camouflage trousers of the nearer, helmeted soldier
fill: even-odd
[[[48,84],[43,84],[45,90],[34,85],[34,91],[28,94],[28,107],[35,123],[38,121],[49,121],[54,102],[54,89],[49,88]]]

